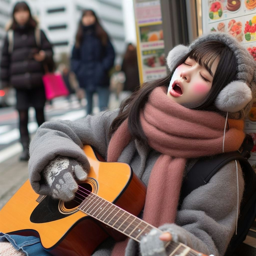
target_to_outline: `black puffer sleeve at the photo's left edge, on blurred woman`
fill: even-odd
[[[9,73],[9,67],[10,67],[10,54],[8,51],[9,43],[8,43],[8,37],[6,36],[4,39],[4,46],[2,49],[2,58],[1,58],[1,82],[2,87],[8,87],[9,86],[9,80],[10,80],[10,73]]]

